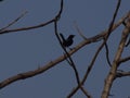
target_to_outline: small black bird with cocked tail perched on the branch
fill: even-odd
[[[60,34],[60,36],[62,37],[63,46],[64,47],[69,47],[69,46],[73,45],[73,42],[74,42],[73,38],[75,37],[75,35],[69,35],[67,39],[65,39],[65,37],[63,36],[63,34]]]

